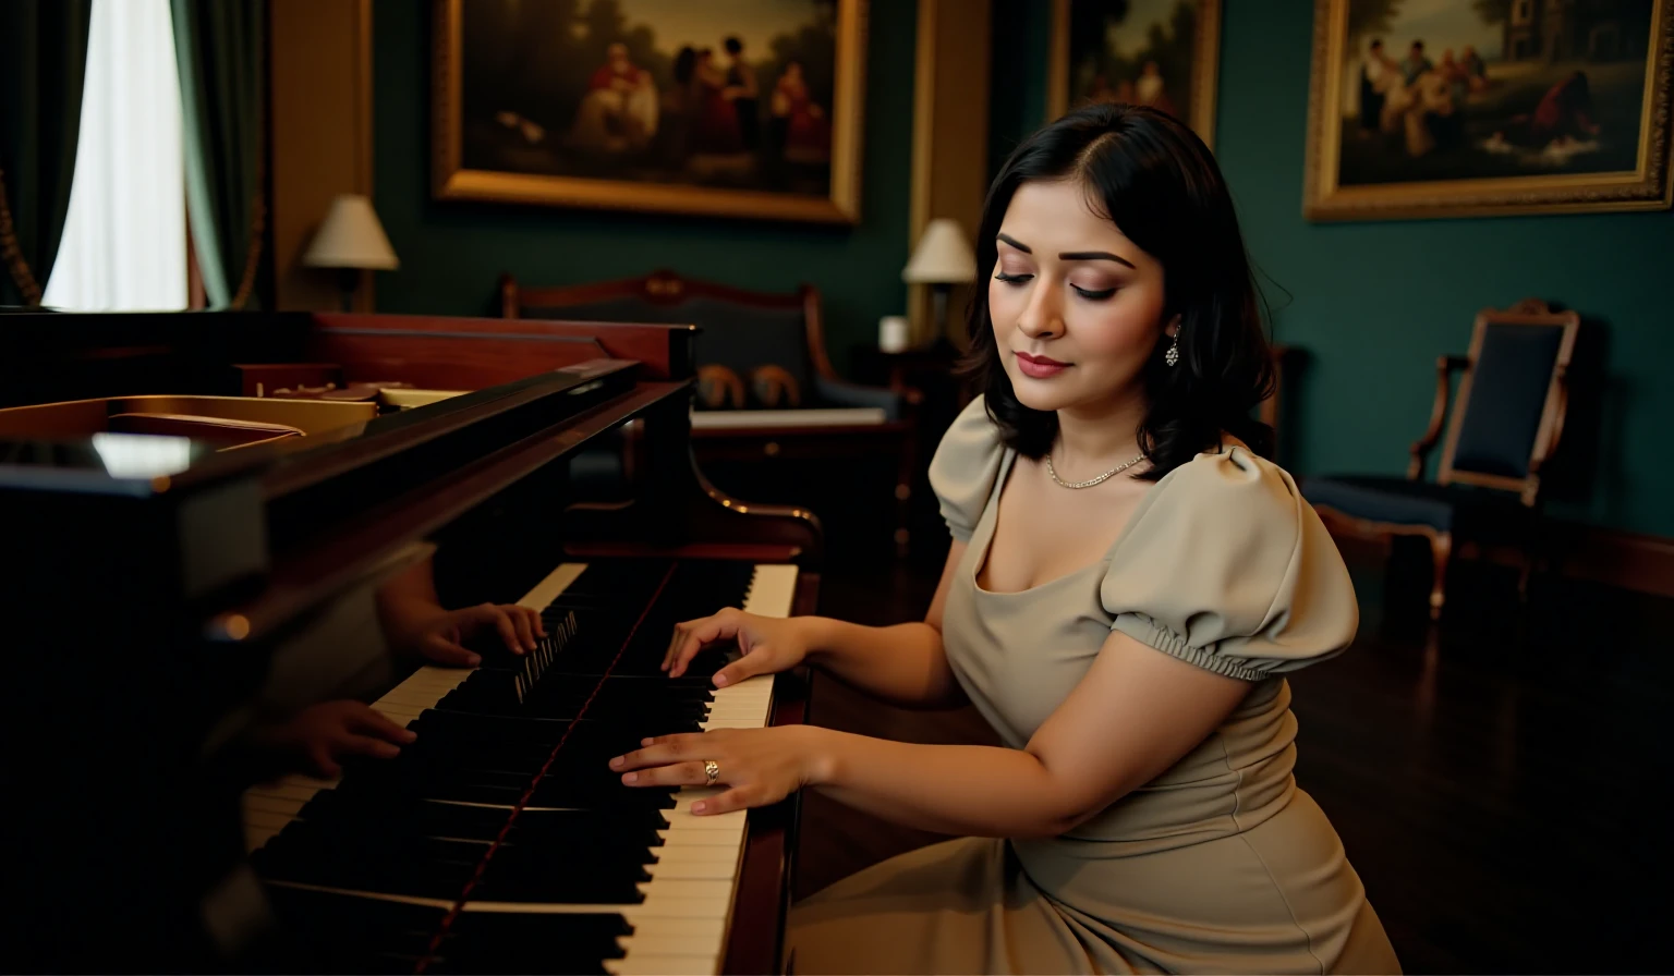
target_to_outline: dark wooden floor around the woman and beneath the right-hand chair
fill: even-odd
[[[1408,973],[1667,973],[1674,601],[1349,551],[1361,629],[1292,680],[1297,782],[1331,815]],[[834,569],[822,613],[922,616],[939,566]],[[1388,586],[1386,586],[1388,583]],[[993,742],[969,710],[881,706],[815,680],[812,718],[914,742]],[[807,797],[798,896],[936,840]]]

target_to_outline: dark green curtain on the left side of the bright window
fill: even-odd
[[[92,0],[0,0],[0,305],[40,305],[70,213]]]

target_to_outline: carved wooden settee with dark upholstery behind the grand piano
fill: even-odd
[[[907,552],[921,395],[837,375],[812,285],[748,291],[658,270],[541,288],[502,275],[499,291],[506,318],[696,325],[691,444],[698,464],[887,457],[896,470],[892,537],[897,554]]]

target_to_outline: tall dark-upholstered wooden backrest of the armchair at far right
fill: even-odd
[[[1565,373],[1577,331],[1577,313],[1555,313],[1538,300],[1476,315],[1440,484],[1515,491],[1523,504],[1535,502],[1540,465],[1564,432]]]

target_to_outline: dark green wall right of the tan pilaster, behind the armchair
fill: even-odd
[[[996,32],[996,44],[1019,39],[996,47],[996,74],[1019,64],[1021,79],[1038,77],[1048,5],[1019,12],[1018,2],[996,12],[996,22],[1026,25]],[[1274,335],[1311,357],[1286,388],[1287,465],[1399,474],[1430,419],[1436,357],[1466,352],[1480,308],[1545,298],[1580,311],[1604,340],[1599,414],[1589,422],[1582,410],[1575,430],[1589,464],[1552,511],[1674,536],[1674,214],[1304,221],[1312,15],[1309,0],[1230,2],[1220,39],[1215,154],[1274,305]],[[996,90],[996,144],[1006,119],[1013,132],[1038,124],[1041,109],[1028,105],[1009,110]]]

